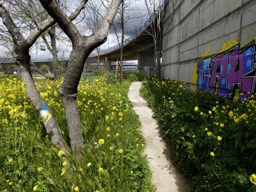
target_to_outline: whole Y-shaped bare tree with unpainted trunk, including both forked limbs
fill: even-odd
[[[72,52],[67,65],[64,82],[60,92],[62,102],[69,127],[69,137],[72,151],[76,151],[77,156],[82,152],[83,136],[80,125],[79,109],[77,106],[77,86],[83,72],[83,65],[90,53],[103,44],[108,36],[109,27],[113,23],[114,16],[121,4],[121,0],[113,0],[109,6],[100,27],[92,35],[83,36],[75,27],[74,23],[59,9],[56,2],[52,0],[40,0],[51,17],[53,17],[62,28],[64,33],[72,41]]]

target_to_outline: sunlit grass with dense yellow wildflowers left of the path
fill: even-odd
[[[68,141],[61,83],[36,80]],[[129,80],[121,86],[104,77],[80,82],[85,143],[78,162],[51,144],[23,83],[0,79],[0,191],[154,191],[140,122],[127,98],[129,86]]]

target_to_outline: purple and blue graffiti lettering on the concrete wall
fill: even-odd
[[[223,98],[244,100],[255,93],[255,40],[239,48],[239,44],[215,56],[197,62],[197,89],[216,93]],[[242,93],[242,94],[241,94]]]

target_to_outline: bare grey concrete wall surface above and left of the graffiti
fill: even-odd
[[[171,1],[176,0],[169,0],[169,13]],[[224,43],[244,46],[256,36],[256,0],[177,1],[163,41],[164,78],[196,83],[195,66],[203,54],[217,54]]]

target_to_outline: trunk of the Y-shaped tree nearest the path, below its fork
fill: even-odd
[[[67,65],[64,82],[60,92],[69,127],[69,138],[72,151],[77,154],[77,157],[82,155],[83,135],[80,125],[79,108],[77,106],[77,86],[83,65],[90,54],[85,46],[76,46],[70,54],[69,64]]]

